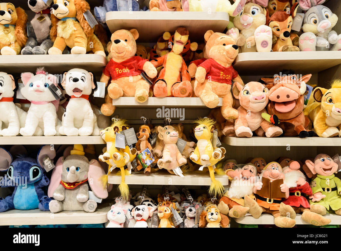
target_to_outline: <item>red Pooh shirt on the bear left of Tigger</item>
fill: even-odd
[[[110,59],[103,70],[103,74],[111,77],[112,80],[120,77],[136,76],[142,73],[146,61],[148,60],[139,56],[131,57],[120,63]]]

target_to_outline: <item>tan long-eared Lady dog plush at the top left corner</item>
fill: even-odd
[[[17,55],[27,41],[27,14],[12,3],[0,3],[0,54]]]

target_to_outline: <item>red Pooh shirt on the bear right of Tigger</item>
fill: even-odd
[[[231,80],[238,76],[238,72],[233,69],[232,65],[230,67],[223,67],[212,58],[205,60],[199,66],[205,68],[207,72],[206,79],[210,77],[214,82],[231,85]]]

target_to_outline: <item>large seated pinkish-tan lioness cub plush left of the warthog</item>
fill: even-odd
[[[237,137],[252,137],[252,132],[258,136],[277,137],[283,133],[282,129],[270,124],[262,113],[269,102],[269,90],[259,82],[250,82],[244,86],[236,82],[233,85],[233,95],[240,102],[239,117],[235,122]]]

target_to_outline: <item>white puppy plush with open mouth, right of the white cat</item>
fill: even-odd
[[[93,75],[83,69],[64,73],[62,86],[71,98],[66,106],[59,133],[67,136],[100,135],[97,117],[89,102],[89,95],[96,86]]]

